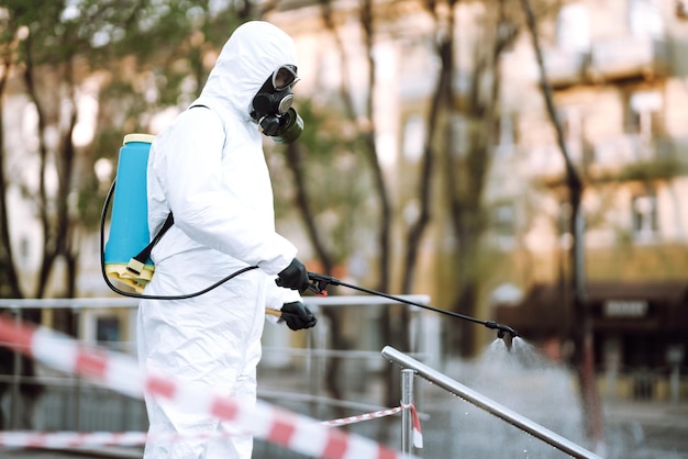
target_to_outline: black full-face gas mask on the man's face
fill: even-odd
[[[296,66],[279,66],[251,102],[251,117],[258,123],[258,131],[278,144],[296,141],[303,131],[303,120],[291,107],[291,87],[297,81],[299,76]]]

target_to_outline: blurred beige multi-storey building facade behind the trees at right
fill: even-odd
[[[685,372],[688,361],[684,351],[688,346],[688,20],[684,3],[580,0],[564,2],[554,14],[533,3],[542,14],[539,38],[556,116],[566,152],[584,183],[585,231],[579,243],[587,307],[595,324],[596,366],[599,374],[606,374],[601,381],[609,382],[610,374],[629,376],[607,389],[611,394],[667,398],[669,374],[677,368]],[[339,4],[337,31],[349,37],[346,49],[358,55],[364,49],[356,5]],[[463,97],[470,78],[462,70],[470,66],[466,47],[475,43],[477,24],[489,10],[480,2],[460,2],[456,8],[454,87]],[[395,25],[385,18],[376,22],[379,33],[374,53],[379,66],[374,100],[378,102],[380,161],[387,167],[399,208],[403,208],[406,187],[400,178],[407,176],[404,168],[419,167],[428,127],[424,113],[439,70],[432,51],[436,23],[422,9],[409,7],[407,13],[396,15]],[[304,81],[332,89],[347,70],[339,66],[328,31],[314,20],[318,15],[318,7],[311,3],[268,18],[285,26],[300,55],[307,56],[301,68],[313,74]],[[569,190],[532,37],[522,12],[514,18],[518,33],[500,57],[499,120],[486,152],[491,166],[484,193],[490,215],[485,240],[501,266],[485,278],[478,311],[513,325],[554,358],[566,359],[573,354],[580,323],[568,286],[574,269]],[[352,63],[348,71],[355,68]],[[358,83],[365,91],[362,75],[365,71],[349,77],[354,89]],[[312,91],[307,85],[301,89]],[[466,130],[457,117],[455,131]],[[456,142],[462,142],[460,135]],[[431,260],[445,244],[437,226],[424,245]],[[446,280],[434,282],[441,268],[433,261],[426,267],[417,288],[430,293],[433,302],[441,301]],[[486,342],[491,335],[478,339]],[[653,374],[652,389],[648,373]],[[681,388],[685,393],[685,382]]]

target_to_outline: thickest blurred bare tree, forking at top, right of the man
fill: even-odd
[[[439,16],[433,11],[435,21],[445,24],[444,43],[439,46],[442,71],[447,79],[454,79],[455,55],[455,12],[457,1],[443,4],[441,10],[446,11]],[[436,2],[428,2],[426,8],[440,11]],[[454,291],[456,296],[452,301],[452,309],[458,313],[476,315],[479,302],[479,289],[482,271],[480,256],[482,254],[481,239],[487,227],[486,210],[482,192],[486,184],[487,171],[491,163],[491,148],[495,143],[495,125],[499,119],[499,61],[504,48],[515,35],[517,24],[506,1],[486,1],[482,14],[478,18],[479,36],[475,37],[473,47],[473,66],[468,80],[469,89],[465,97],[458,98],[452,85],[442,89],[442,100],[448,101],[444,113],[443,148],[439,152],[442,161],[441,173],[446,194],[446,209],[450,216],[455,246],[452,260],[447,261],[448,269],[456,280]],[[437,87],[440,89],[440,87]],[[454,102],[457,101],[458,102]],[[463,120],[465,138],[457,142],[455,138],[455,120]],[[464,150],[457,146],[464,144]],[[458,323],[447,328],[448,349],[458,348],[464,355],[475,352],[475,325]]]

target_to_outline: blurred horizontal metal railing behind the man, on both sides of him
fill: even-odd
[[[429,302],[428,295],[403,295],[400,298],[420,303]],[[358,311],[360,314],[365,314],[366,317],[370,314],[376,315],[377,311],[385,306],[398,305],[409,309],[412,311],[411,317],[414,318],[414,326],[410,329],[410,334],[412,335],[410,336],[410,342],[419,345],[419,343],[422,343],[424,339],[424,332],[422,329],[423,318],[421,317],[421,310],[417,306],[399,304],[388,299],[370,295],[308,296],[304,298],[304,303],[314,312],[318,312],[321,307],[345,307],[349,312]],[[127,310],[131,313],[129,321],[135,324],[134,310],[137,307],[137,304],[138,301],[131,298],[0,299],[0,309],[11,312],[18,323],[22,321],[23,311],[29,309],[71,310],[76,322],[79,323],[79,340],[88,345],[104,344],[113,349],[129,354],[135,352],[136,347],[133,339],[127,342],[98,343],[95,334],[95,321],[102,317],[103,314],[107,314],[108,310]],[[362,401],[358,396],[351,398],[355,401],[326,396],[326,387],[321,376],[324,373],[324,365],[328,359],[342,359],[343,361],[356,365],[356,369],[364,368],[366,370],[369,370],[368,367],[370,366],[380,367],[379,363],[382,362],[379,359],[380,347],[378,343],[367,343],[364,349],[328,348],[328,323],[323,314],[319,315],[321,316],[319,326],[308,332],[304,347],[291,347],[286,345],[286,343],[278,343],[274,346],[268,344],[263,347],[264,360],[269,360],[270,354],[279,352],[281,356],[297,361],[299,368],[302,367],[306,370],[300,372],[303,379],[300,380],[301,382],[298,384],[298,388],[306,389],[308,393],[289,392],[289,388],[284,385],[282,381],[270,387],[270,381],[262,380],[258,396],[303,405],[310,407],[311,414],[318,415],[329,415],[336,410],[347,410],[357,413],[385,408],[386,406],[381,406],[373,400]],[[132,324],[127,323],[121,324],[123,329],[129,328],[131,331],[132,326]],[[284,333],[290,336],[289,334],[291,332],[286,331]],[[131,332],[130,335],[132,335]],[[420,356],[419,354],[414,355]],[[145,417],[143,402],[140,400],[112,394],[109,390],[99,388],[74,376],[58,374],[49,371],[47,373],[42,371],[35,377],[22,376],[22,359],[19,354],[14,354],[14,359],[11,365],[12,368],[9,373],[1,374],[2,371],[0,371],[0,385],[7,384],[7,394],[9,395],[4,403],[9,422],[4,424],[4,428],[23,429],[27,427],[22,419],[25,417],[26,406],[24,406],[25,398],[22,398],[20,394],[20,388],[23,383],[36,383],[47,388],[41,395],[41,412],[38,415],[41,418],[36,423],[38,428],[48,430],[130,430],[143,427],[145,429],[147,419]],[[265,371],[269,374],[277,374],[279,369],[273,370],[268,368]],[[279,379],[279,377],[275,379]],[[108,393],[110,393],[109,396],[107,395]],[[2,396],[2,393],[0,393],[0,396]],[[104,406],[110,406],[111,404],[116,405],[116,413],[112,413],[109,419],[101,419],[102,413],[96,413],[93,411],[93,408],[97,408],[96,411],[102,412]],[[2,405],[3,404],[0,403],[0,410],[3,408]],[[2,413],[0,413],[0,415],[2,415]]]

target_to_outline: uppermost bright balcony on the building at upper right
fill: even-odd
[[[592,81],[654,78],[668,71],[667,44],[651,36],[626,35],[597,41],[587,69]]]

